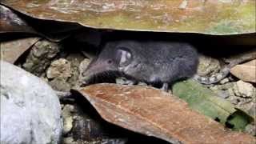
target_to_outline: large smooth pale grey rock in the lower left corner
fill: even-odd
[[[40,78],[1,61],[1,143],[58,143],[61,106]]]

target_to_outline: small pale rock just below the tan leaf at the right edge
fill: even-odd
[[[253,98],[256,97],[256,89],[248,82],[242,82],[241,80],[235,82],[233,87],[234,94],[242,98]]]

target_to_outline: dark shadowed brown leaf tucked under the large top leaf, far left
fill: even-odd
[[[82,26],[73,22],[51,22],[31,18],[1,4],[0,15],[0,36],[3,37],[6,33],[28,33],[37,34],[50,41],[58,42],[68,37],[70,35],[67,34],[68,32],[82,28]]]

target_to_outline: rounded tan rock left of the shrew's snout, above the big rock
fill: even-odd
[[[67,80],[71,77],[71,65],[70,62],[64,58],[59,58],[50,64],[50,67],[46,71],[46,77],[53,78],[62,78]]]

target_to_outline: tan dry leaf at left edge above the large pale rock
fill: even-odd
[[[6,62],[14,63],[39,38],[22,38],[18,40],[0,42],[0,58]]]

